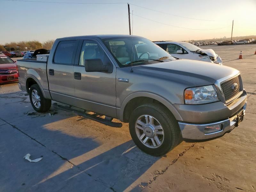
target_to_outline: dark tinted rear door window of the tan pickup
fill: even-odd
[[[75,41],[60,41],[54,55],[54,63],[71,64]]]

